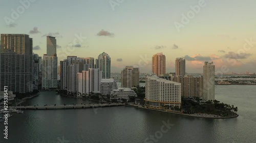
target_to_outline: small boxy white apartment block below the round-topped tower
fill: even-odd
[[[110,95],[113,90],[117,89],[117,83],[113,78],[104,78],[100,81],[101,95]]]

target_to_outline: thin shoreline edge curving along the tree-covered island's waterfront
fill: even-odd
[[[145,108],[145,107],[140,107],[139,105],[126,104],[124,106],[130,106],[130,107],[141,108],[141,109],[148,109],[148,110],[155,110],[155,111],[161,111],[161,112],[167,112],[167,113],[174,113],[174,114],[177,114],[177,115],[188,116],[188,117],[195,117],[195,118],[204,118],[204,119],[228,119],[228,118],[237,118],[239,116],[237,114],[237,115],[231,116],[231,117],[202,117],[202,116],[193,116],[193,115],[189,115],[189,114],[185,114],[185,113],[179,113],[179,112],[173,112],[173,111]]]

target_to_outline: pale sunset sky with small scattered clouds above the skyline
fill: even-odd
[[[46,53],[46,36],[57,40],[58,61],[106,52],[111,72],[125,66],[151,73],[152,56],[186,59],[187,73],[214,62],[217,73],[256,72],[256,1],[253,0],[21,0],[1,1],[0,33],[28,34],[33,52]],[[255,42],[254,42],[255,41]],[[59,63],[58,63],[59,64]]]

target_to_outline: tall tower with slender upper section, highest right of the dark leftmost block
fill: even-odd
[[[47,36],[47,54],[42,59],[42,90],[53,90],[58,85],[58,59],[55,37]]]

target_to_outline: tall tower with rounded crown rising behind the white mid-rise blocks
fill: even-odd
[[[110,78],[111,58],[109,54],[102,52],[96,59],[95,68],[103,72],[103,78]]]

